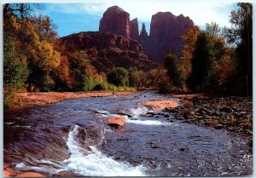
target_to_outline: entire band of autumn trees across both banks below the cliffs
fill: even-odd
[[[157,89],[161,93],[204,92],[252,95],[252,4],[238,3],[231,28],[217,23],[183,35],[181,56],[166,55],[150,71],[115,67],[97,72],[84,50],[68,51],[48,16],[33,15],[37,4],[3,6],[3,99],[11,106],[18,91]]]

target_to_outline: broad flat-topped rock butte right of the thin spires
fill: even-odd
[[[190,26],[194,26],[193,21],[183,14],[175,16],[170,12],[159,12],[152,15],[147,55],[158,61],[163,61],[169,53],[180,55],[183,47],[181,37]]]

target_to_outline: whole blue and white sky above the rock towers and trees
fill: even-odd
[[[59,36],[63,37],[76,32],[98,31],[103,13],[113,5],[128,12],[130,20],[137,17],[139,30],[142,23],[146,23],[149,34],[151,16],[160,11],[189,16],[202,29],[212,21],[216,21],[219,26],[230,26],[230,11],[236,3],[231,0],[87,0],[83,3],[40,3],[37,14],[49,15],[58,26]]]

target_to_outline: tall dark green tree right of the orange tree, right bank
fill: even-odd
[[[214,26],[218,27],[217,24]],[[211,26],[208,26],[207,32],[201,32],[195,43],[192,71],[188,79],[189,89],[193,92],[218,92],[218,77],[221,76],[218,74],[218,71],[221,71],[219,65],[227,53],[224,37],[218,35],[218,29],[215,27],[211,30]]]

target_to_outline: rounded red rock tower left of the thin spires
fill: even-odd
[[[118,6],[108,8],[100,21],[99,31],[130,37],[130,14]]]

